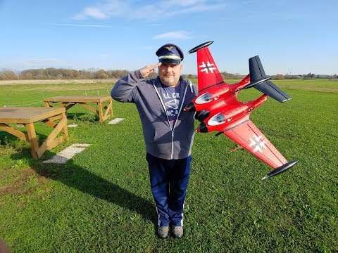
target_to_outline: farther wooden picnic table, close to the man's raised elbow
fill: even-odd
[[[82,105],[84,108],[91,110],[100,117],[100,123],[104,122],[105,119],[108,119],[108,115],[113,117],[113,100],[111,96],[56,96],[53,98],[44,98],[44,105],[46,107],[51,107],[55,103],[61,102],[58,107],[64,107],[65,110],[72,108],[77,103]],[[98,106],[98,110],[89,103],[94,103]],[[104,103],[108,103],[105,105]],[[106,110],[106,112],[104,112]]]

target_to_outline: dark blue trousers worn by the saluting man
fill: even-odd
[[[183,205],[187,192],[192,156],[165,160],[146,153],[151,193],[158,214],[158,226],[183,226]]]

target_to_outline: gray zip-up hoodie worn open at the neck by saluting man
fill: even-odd
[[[173,129],[163,103],[159,77],[144,80],[139,70],[130,72],[115,84],[111,97],[120,102],[135,103],[142,122],[146,152],[171,160],[188,157],[194,141],[194,112],[183,108],[197,96],[197,86],[180,77],[180,105]]]

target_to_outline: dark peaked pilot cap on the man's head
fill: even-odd
[[[158,56],[158,61],[163,64],[180,64],[183,60],[183,52],[181,48],[175,44],[165,44],[158,48],[156,51],[156,56]]]

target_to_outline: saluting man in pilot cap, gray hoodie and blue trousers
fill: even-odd
[[[115,84],[111,97],[135,103],[142,122],[151,192],[158,214],[158,237],[183,236],[183,204],[194,140],[194,112],[183,108],[198,89],[181,77],[184,56],[175,44],[156,51],[159,63],[130,72]],[[158,77],[144,79],[158,67]]]

